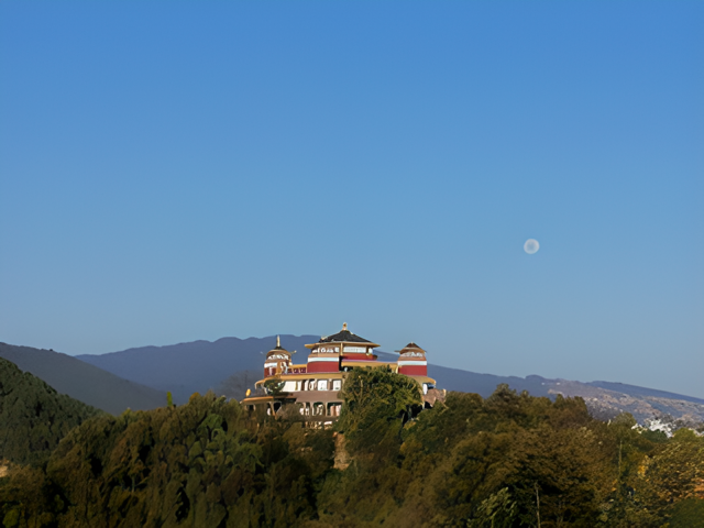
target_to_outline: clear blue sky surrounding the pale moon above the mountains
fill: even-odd
[[[346,321],[704,397],[703,29],[675,1],[2,2],[0,340]]]

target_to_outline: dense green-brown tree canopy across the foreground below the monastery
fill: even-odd
[[[420,410],[355,370],[336,430],[209,394],[98,416],[1,481],[4,526],[704,526],[704,438],[605,424],[582,399],[499,386]],[[344,441],[341,441],[344,439]],[[336,469],[345,446],[349,465]]]

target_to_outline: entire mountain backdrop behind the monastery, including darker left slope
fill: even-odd
[[[282,344],[297,351],[296,363],[308,356],[306,343],[318,336],[282,336]],[[194,341],[167,346],[141,346],[108,354],[70,356],[52,350],[0,343],[0,358],[16,364],[54,387],[85,404],[119,415],[153,409],[166,403],[170,391],[176,404],[188,400],[193,393],[221,391],[232,375],[248,372],[262,375],[264,355],[276,344],[267,338],[222,338],[217,341]],[[378,352],[380,359],[395,361],[396,354]],[[527,377],[479,374],[459,369],[429,364],[428,374],[440,388],[490,396],[498,384],[507,384],[534,396],[580,396],[592,414],[608,419],[619,413],[630,413],[641,424],[659,419],[675,425],[704,422],[704,399],[635,385],[609,382],[582,383]],[[241,383],[238,386],[242,386]],[[243,391],[242,391],[243,392]],[[243,396],[243,395],[242,395]]]

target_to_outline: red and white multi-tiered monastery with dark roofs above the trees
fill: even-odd
[[[348,330],[346,322],[334,336],[322,337],[317,343],[306,344],[310,349],[308,362],[296,365],[292,353],[280,345],[270,350],[264,361],[264,378],[255,383],[254,394],[248,391],[242,404],[250,410],[264,408],[276,415],[289,404],[296,405],[306,421],[331,425],[340,416],[342,399],[340,391],[346,372],[354,366],[389,366],[392,372],[404,374],[418,383],[426,407],[444,398],[444,392],[436,388],[436,381],[428,377],[426,351],[416,343],[408,343],[399,351],[395,362],[377,361],[374,349],[378,344],[355,336]],[[267,382],[274,383],[267,383]],[[276,385],[276,391],[272,391]]]

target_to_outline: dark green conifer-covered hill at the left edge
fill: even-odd
[[[99,414],[0,358],[0,459],[41,464],[68,431]]]

